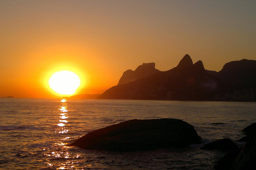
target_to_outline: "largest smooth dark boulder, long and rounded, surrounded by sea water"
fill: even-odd
[[[194,127],[178,119],[129,120],[94,130],[70,146],[111,151],[152,150],[199,144]]]

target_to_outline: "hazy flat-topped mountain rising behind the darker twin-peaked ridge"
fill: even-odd
[[[134,71],[126,70],[117,85],[126,84],[138,79],[142,79],[158,72],[161,71],[155,68],[155,63],[143,63],[142,65],[139,65]]]

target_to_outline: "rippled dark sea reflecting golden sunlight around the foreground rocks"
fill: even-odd
[[[95,129],[157,118],[190,123],[202,144],[137,152],[66,146]],[[236,141],[254,122],[256,103],[1,98],[0,169],[213,169],[225,152],[200,147],[224,137]]]

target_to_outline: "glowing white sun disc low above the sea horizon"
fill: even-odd
[[[49,85],[59,94],[71,95],[79,87],[80,79],[71,71],[59,71],[51,76]]]

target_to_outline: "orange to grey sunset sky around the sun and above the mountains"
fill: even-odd
[[[185,54],[207,70],[256,60],[253,0],[1,0],[0,97],[60,98],[48,80],[76,73],[75,94],[103,93],[123,72]]]

